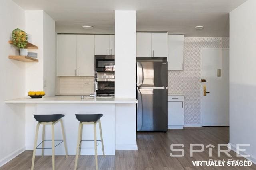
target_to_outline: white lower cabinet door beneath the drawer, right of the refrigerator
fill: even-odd
[[[183,102],[168,102],[168,125],[184,125]]]

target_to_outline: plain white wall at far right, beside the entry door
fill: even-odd
[[[230,143],[256,163],[256,1],[230,12]],[[234,149],[234,148],[233,148]]]

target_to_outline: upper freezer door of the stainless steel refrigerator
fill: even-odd
[[[137,61],[138,87],[167,87],[167,62]]]

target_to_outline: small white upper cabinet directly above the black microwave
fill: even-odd
[[[114,55],[114,35],[95,35],[95,55]]]

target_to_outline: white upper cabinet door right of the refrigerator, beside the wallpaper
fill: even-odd
[[[168,70],[183,70],[184,35],[168,35]]]

